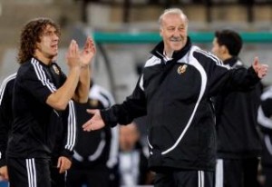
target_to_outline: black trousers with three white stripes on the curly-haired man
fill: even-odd
[[[7,158],[10,187],[51,187],[49,161]]]

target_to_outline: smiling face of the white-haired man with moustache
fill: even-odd
[[[187,43],[188,20],[185,15],[169,13],[162,15],[160,36],[163,39],[164,50],[167,53],[179,51]]]

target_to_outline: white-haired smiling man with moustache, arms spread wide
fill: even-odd
[[[216,129],[210,98],[222,89],[246,89],[267,74],[257,58],[248,69],[230,69],[191,44],[188,18],[179,8],[159,18],[162,41],[151,51],[133,93],[83,124],[93,132],[146,115],[149,167],[155,187],[213,187]]]

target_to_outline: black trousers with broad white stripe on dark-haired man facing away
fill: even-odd
[[[258,158],[218,159],[216,187],[258,187]]]

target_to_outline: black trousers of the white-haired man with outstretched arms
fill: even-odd
[[[214,172],[174,171],[157,172],[154,187],[213,187]]]

